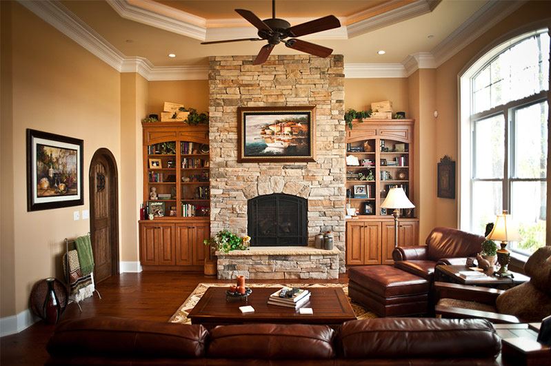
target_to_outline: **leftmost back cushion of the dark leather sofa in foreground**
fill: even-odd
[[[102,316],[59,323],[47,348],[52,356],[196,358],[207,336],[203,325]]]

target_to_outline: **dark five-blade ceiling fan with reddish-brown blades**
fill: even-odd
[[[334,15],[328,15],[327,17],[314,19],[313,21],[307,21],[306,23],[298,24],[297,26],[291,26],[288,21],[278,19],[275,17],[275,0],[272,0],[272,18],[261,20],[250,10],[235,9],[235,11],[245,18],[253,26],[257,27],[260,38],[242,38],[242,39],[229,39],[227,41],[210,41],[201,42],[203,45],[213,43],[227,43],[227,42],[239,42],[239,41],[268,41],[267,45],[263,45],[260,49],[257,58],[254,59],[253,65],[260,65],[264,63],[270,53],[274,49],[274,46],[278,43],[285,43],[288,48],[294,50],[306,52],[319,57],[328,57],[333,50],[331,48],[323,47],[323,45],[317,45],[314,43],[301,41],[300,39],[288,37],[301,37],[306,34],[312,34],[321,32],[323,30],[329,30],[333,28],[339,28],[341,22]]]

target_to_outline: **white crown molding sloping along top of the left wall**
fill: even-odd
[[[59,1],[18,1],[101,61],[120,71],[124,55]]]

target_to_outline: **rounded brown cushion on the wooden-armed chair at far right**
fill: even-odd
[[[496,307],[501,314],[517,316],[527,323],[539,323],[551,315],[551,296],[539,291],[530,281],[497,296]]]

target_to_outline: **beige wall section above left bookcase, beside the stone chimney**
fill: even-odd
[[[166,101],[208,112],[208,80],[150,81],[148,92],[148,114],[160,117]]]

